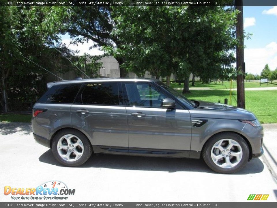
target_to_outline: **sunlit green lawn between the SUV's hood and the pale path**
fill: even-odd
[[[181,91],[179,91],[181,92]],[[230,99],[230,92],[225,90],[191,90],[184,94],[188,99],[224,103]],[[237,92],[232,92],[231,105],[237,106]],[[253,112],[261,123],[277,123],[277,90],[245,91],[246,109]]]

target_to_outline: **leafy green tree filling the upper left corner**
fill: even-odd
[[[43,74],[40,73],[41,69],[29,64],[25,57],[40,62],[43,55],[51,54],[49,46],[59,41],[57,33],[58,28],[63,27],[62,19],[66,18],[65,10],[66,8],[62,7],[1,8],[1,106],[5,111],[8,106],[9,92],[15,92],[18,88],[17,83],[27,84],[28,76],[32,79],[41,78],[39,76]],[[27,92],[31,94],[30,86]]]

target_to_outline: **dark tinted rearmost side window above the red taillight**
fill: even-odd
[[[81,84],[57,85],[51,87],[38,103],[73,103]]]

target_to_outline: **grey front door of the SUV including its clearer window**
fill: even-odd
[[[129,154],[189,157],[189,111],[161,108],[167,96],[149,82],[126,82],[125,86]]]

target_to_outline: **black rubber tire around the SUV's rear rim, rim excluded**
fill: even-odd
[[[71,161],[71,162],[65,161],[60,157],[60,155],[58,153],[58,150],[57,150],[58,141],[63,135],[66,135],[66,134],[76,135],[82,141],[82,143],[84,145],[83,155],[77,161]],[[52,152],[53,152],[55,159],[57,159],[57,161],[59,161],[59,163],[65,165],[65,166],[80,166],[89,159],[89,157],[92,154],[92,148],[91,148],[91,143],[89,142],[87,137],[85,135],[83,135],[83,133],[81,133],[78,130],[69,129],[69,130],[62,130],[55,135],[55,137],[53,138],[53,142],[52,142]]]

